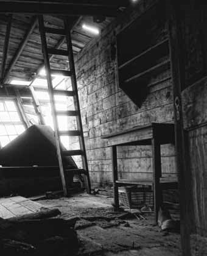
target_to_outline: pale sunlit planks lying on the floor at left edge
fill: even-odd
[[[15,196],[9,198],[0,198],[0,218],[3,219],[38,213],[43,209],[49,210],[43,205],[33,202],[26,197]]]

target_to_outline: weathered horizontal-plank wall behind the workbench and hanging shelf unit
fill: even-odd
[[[107,141],[101,138],[102,135],[150,122],[174,121],[170,70],[152,77],[149,94],[141,108],[133,104],[118,87],[114,54],[116,34],[141,15],[150,5],[148,2],[141,1],[136,12],[127,13],[110,24],[76,57],[83,130],[93,186],[111,184],[112,181],[110,148],[107,148]],[[161,156],[164,176],[176,176],[174,146],[163,145]],[[119,148],[118,158],[122,179],[152,177],[150,146]]]

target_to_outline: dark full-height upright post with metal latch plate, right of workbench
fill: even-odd
[[[190,221],[189,214],[191,205],[191,183],[189,182],[189,169],[186,159],[186,135],[183,130],[183,115],[181,104],[181,88],[184,74],[184,65],[181,60],[181,27],[179,6],[175,1],[169,0],[169,43],[171,73],[174,91],[174,112],[175,112],[175,148],[177,151],[178,182],[180,187],[180,222],[181,222],[181,246],[184,256],[191,255],[190,248]]]

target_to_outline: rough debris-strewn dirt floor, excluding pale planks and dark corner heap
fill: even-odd
[[[112,198],[82,193],[38,202],[59,208],[58,218],[79,217],[75,224],[81,242],[79,255],[181,255],[178,233],[160,232],[153,225],[153,214],[138,219],[125,212],[113,212]]]

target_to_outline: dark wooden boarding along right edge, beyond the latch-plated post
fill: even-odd
[[[189,169],[195,230],[191,234],[191,255],[207,255],[207,77],[206,5],[191,1],[183,8],[184,129],[188,135]]]

